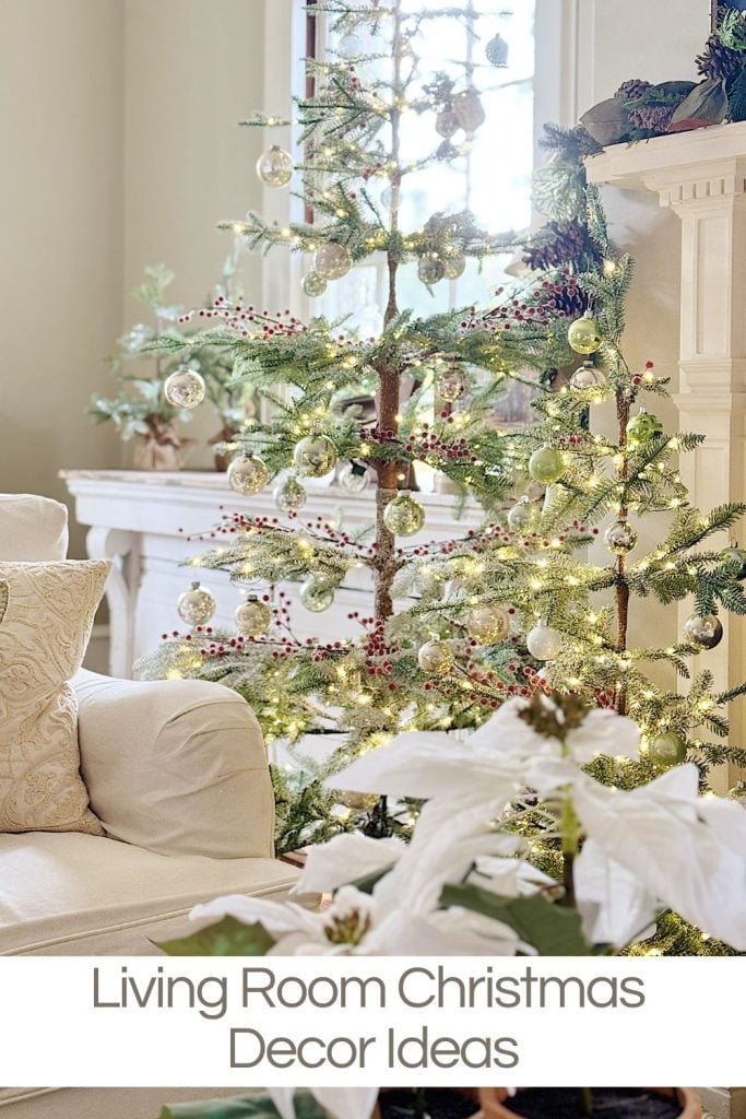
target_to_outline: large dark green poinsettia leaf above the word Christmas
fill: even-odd
[[[481,913],[482,916],[501,921],[518,933],[527,944],[531,944],[539,956],[593,956],[593,946],[586,940],[580,928],[577,910],[557,905],[544,894],[528,897],[501,897],[481,886],[461,884],[445,886],[441,894],[441,905]]]

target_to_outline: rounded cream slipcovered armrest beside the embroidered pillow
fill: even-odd
[[[107,835],[164,855],[268,858],[274,796],[256,717],[206,680],[82,670],[81,770]]]

